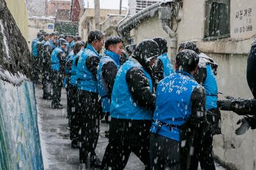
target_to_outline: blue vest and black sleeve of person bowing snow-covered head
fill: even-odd
[[[152,120],[155,96],[150,74],[136,59],[120,67],[111,94],[110,116],[128,120]]]

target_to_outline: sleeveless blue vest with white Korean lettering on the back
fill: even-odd
[[[156,110],[150,130],[157,132],[157,122],[173,125],[175,127],[172,131],[169,126],[163,125],[158,129],[158,134],[179,141],[179,127],[191,117],[191,94],[198,85],[193,76],[184,71],[177,71],[159,81],[156,91]]]

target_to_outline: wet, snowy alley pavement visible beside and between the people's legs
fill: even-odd
[[[36,106],[38,110],[38,127],[45,169],[80,169],[79,151],[70,146],[69,131],[67,129],[67,96],[65,89],[61,92],[62,110],[51,109],[51,101],[42,99],[42,88],[35,86]],[[108,139],[104,132],[108,125],[100,124],[100,137],[96,148],[96,154],[100,160],[104,155]],[[144,165],[133,153],[131,154],[125,169],[144,169]],[[225,170],[216,164],[216,169]]]

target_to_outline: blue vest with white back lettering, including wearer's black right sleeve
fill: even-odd
[[[180,141],[182,125],[193,119],[191,125],[196,126],[205,118],[204,89],[185,71],[176,71],[161,80],[156,95],[151,127],[154,133]]]

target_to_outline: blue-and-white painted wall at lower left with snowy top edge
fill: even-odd
[[[44,169],[33,83],[23,81],[26,76],[0,73],[9,80],[0,79],[0,170]]]

